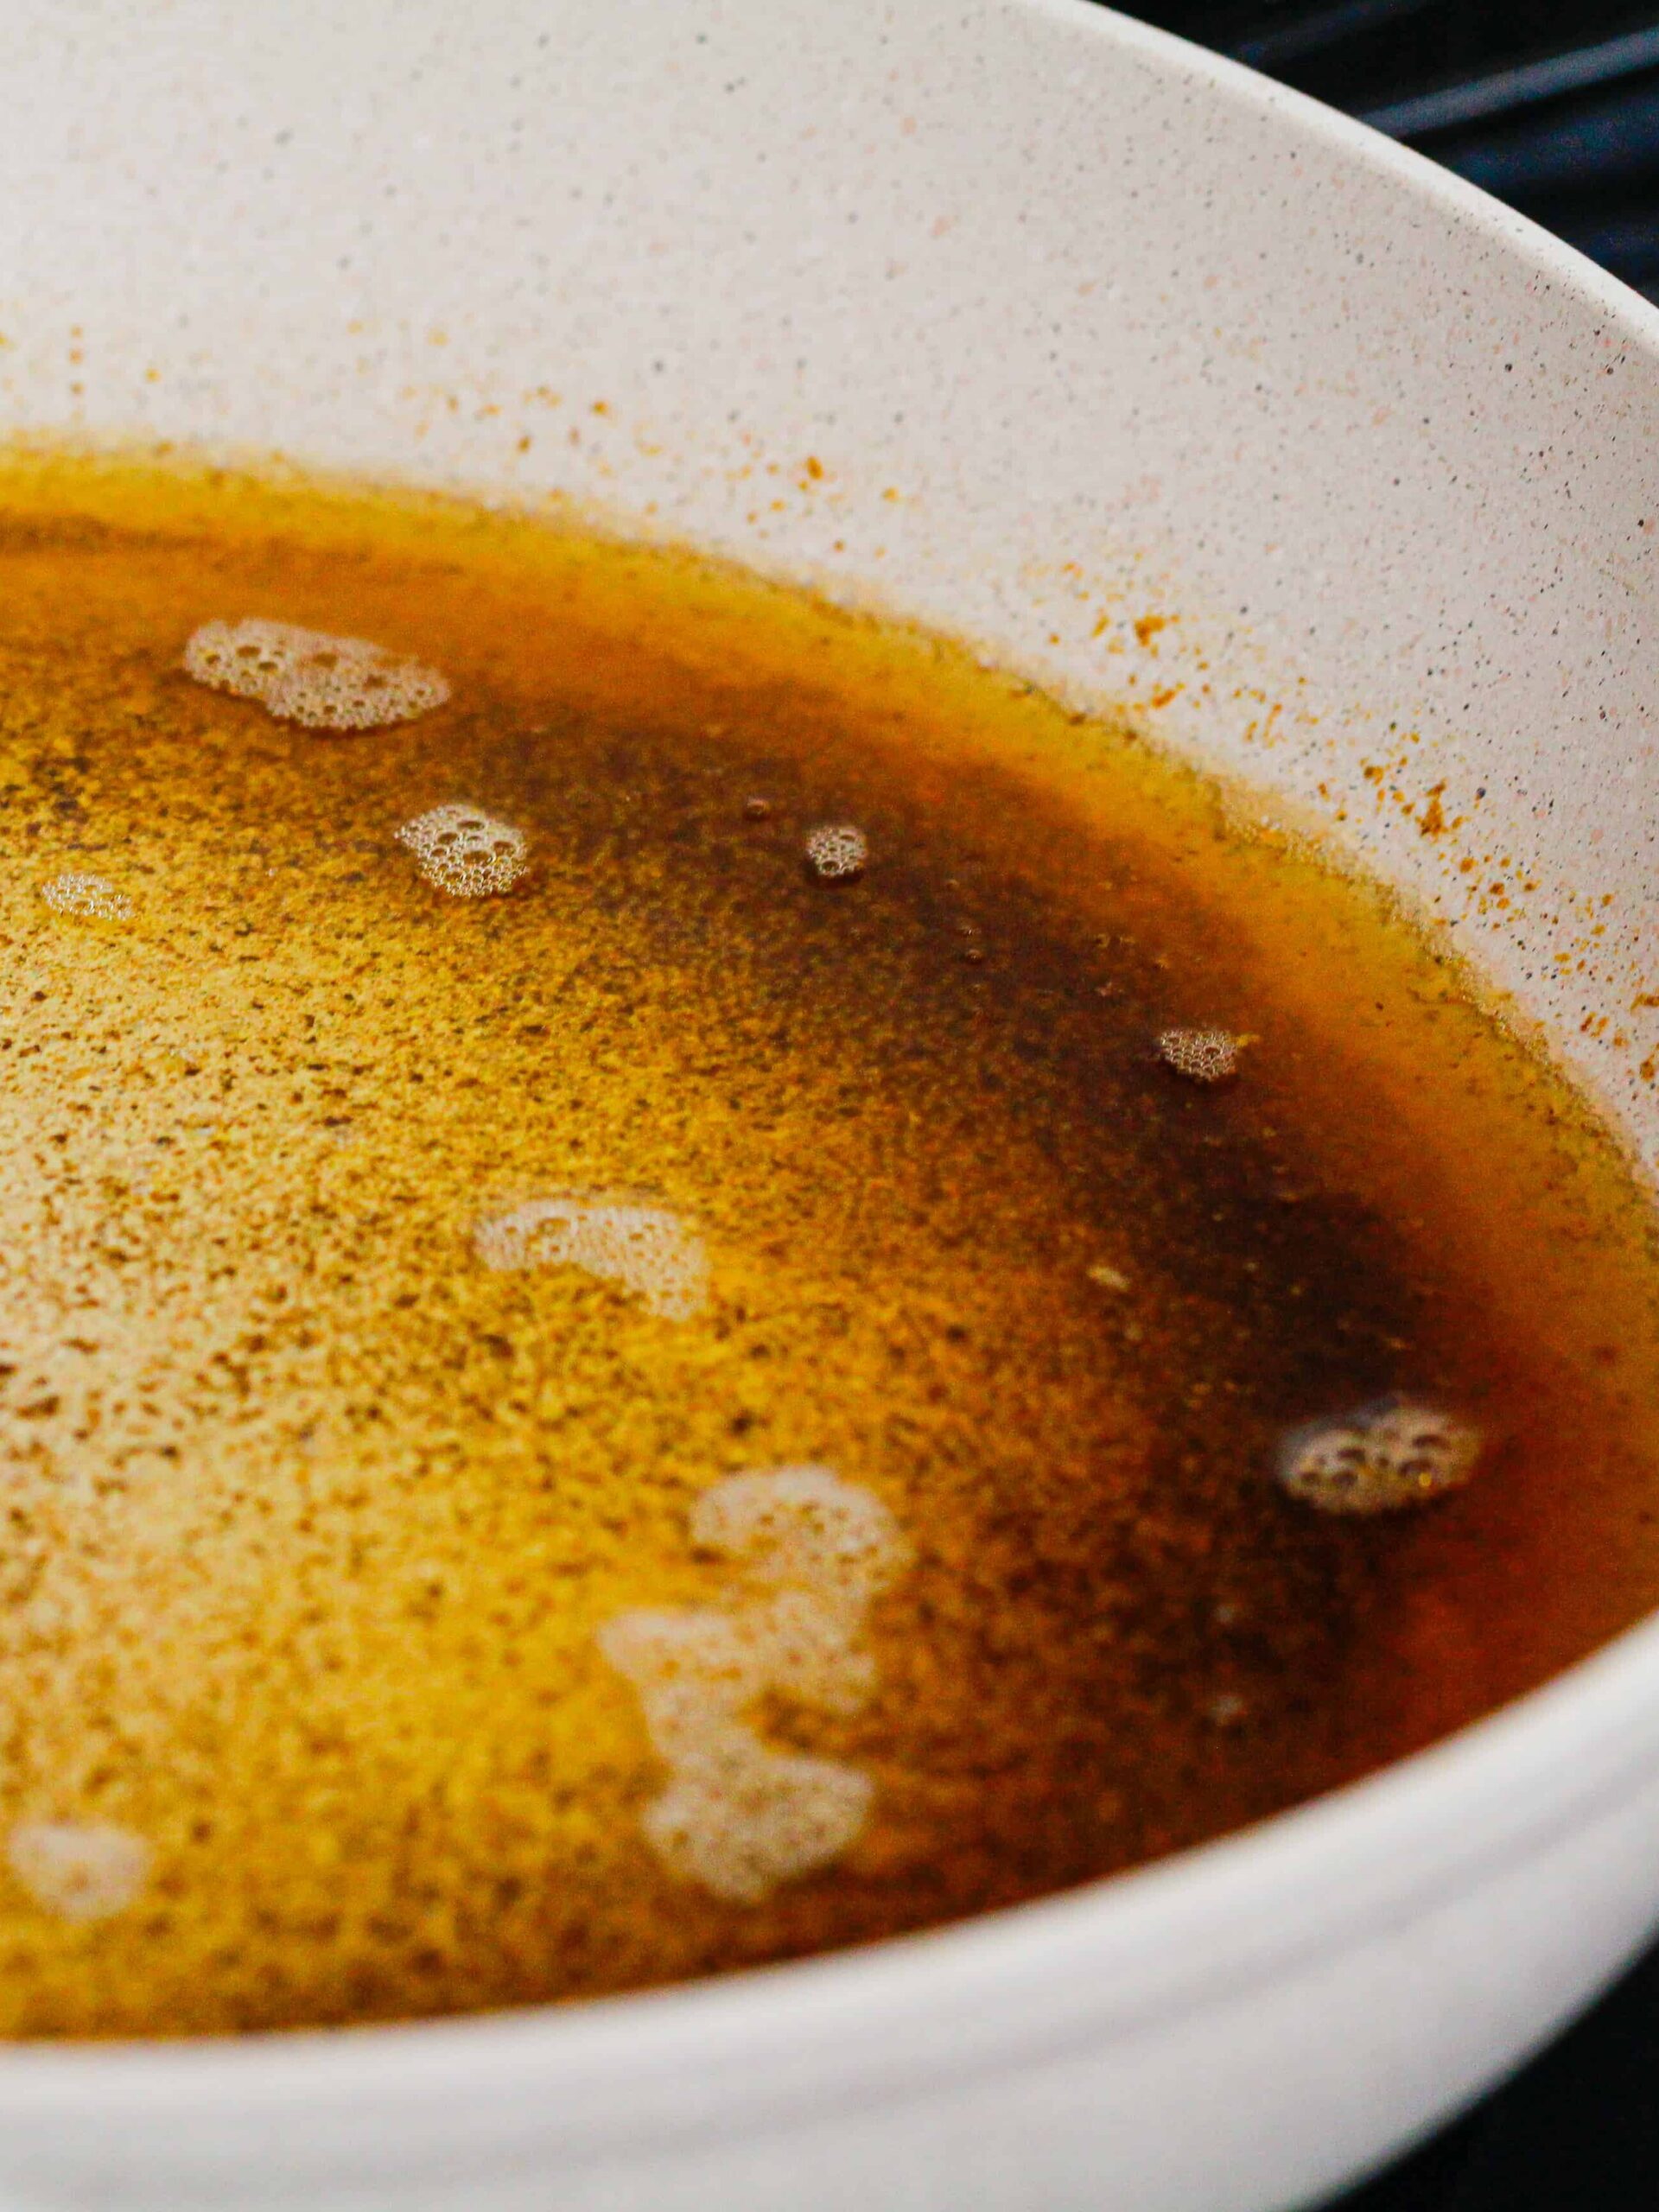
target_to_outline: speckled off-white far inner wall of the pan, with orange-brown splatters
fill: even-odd
[[[392,13],[0,15],[0,420],[571,491],[1175,692],[1659,1155],[1655,310],[1064,0]]]

